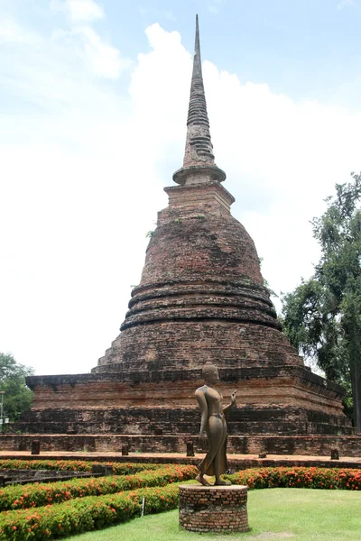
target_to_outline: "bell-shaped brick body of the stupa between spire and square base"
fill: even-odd
[[[187,371],[243,357],[301,364],[279,332],[255,243],[230,215],[227,190],[210,183],[167,191],[170,206],[159,214],[122,333],[94,371]]]

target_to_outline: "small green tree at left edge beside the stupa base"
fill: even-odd
[[[32,368],[16,362],[10,353],[0,353],[0,390],[5,391],[4,411],[11,421],[32,404],[32,390],[25,383],[32,374]]]

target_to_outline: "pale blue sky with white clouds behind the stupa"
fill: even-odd
[[[90,371],[183,159],[195,14],[233,215],[272,289],[361,170],[361,0],[0,0],[0,351]]]

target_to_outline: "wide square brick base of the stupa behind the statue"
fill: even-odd
[[[219,370],[226,404],[238,390],[230,436],[353,434],[338,385],[324,385],[303,366],[238,364]],[[197,436],[200,412],[194,391],[203,382],[199,375],[191,369],[32,376],[32,409],[23,413],[16,429],[77,436]]]

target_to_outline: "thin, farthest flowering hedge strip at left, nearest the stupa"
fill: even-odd
[[[151,463],[111,463],[85,460],[0,460],[0,470],[55,470],[66,472],[91,472],[93,465],[112,466],[113,472],[119,475],[154,470],[160,464]]]

